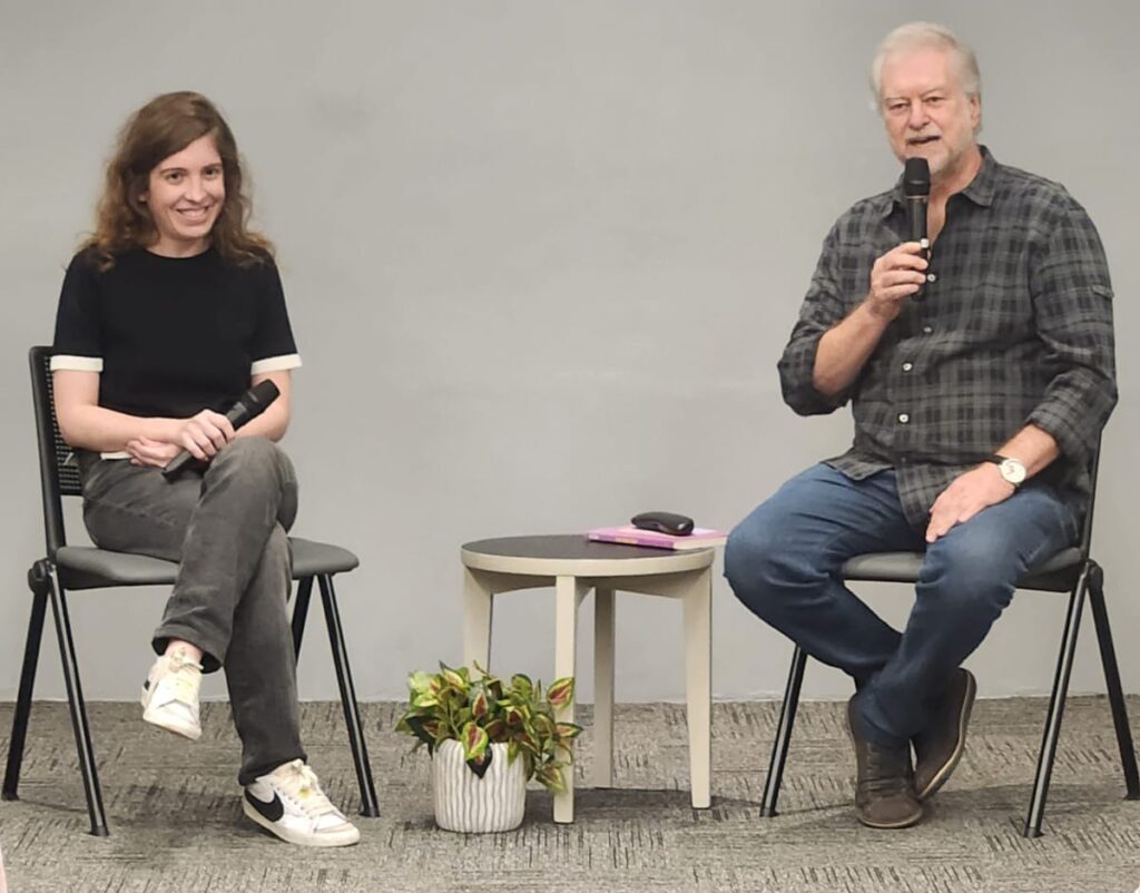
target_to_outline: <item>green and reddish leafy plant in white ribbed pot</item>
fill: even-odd
[[[453,668],[408,677],[408,709],[396,730],[427,746],[432,757],[435,822],[450,831],[505,831],[522,823],[527,782],[536,779],[565,790],[572,771],[570,742],[581,726],[556,714],[573,699],[573,679],[544,691],[542,682],[516,673],[510,682]]]

